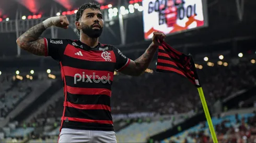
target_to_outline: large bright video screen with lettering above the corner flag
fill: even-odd
[[[143,0],[144,38],[207,26],[206,0]]]

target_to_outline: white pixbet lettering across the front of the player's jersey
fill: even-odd
[[[109,83],[111,84],[110,82],[110,74],[108,73],[108,76],[99,76],[99,75],[96,75],[95,72],[92,73],[92,75],[88,75],[88,74],[85,74],[85,72],[83,72],[83,74],[79,74],[79,73],[76,73],[74,75],[74,84],[76,84],[77,82],[81,81],[82,82],[86,82],[86,83],[99,83],[99,82],[102,82],[102,83]]]

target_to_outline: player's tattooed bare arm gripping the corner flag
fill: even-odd
[[[133,76],[138,76],[144,73],[144,71],[148,68],[149,63],[153,59],[159,46],[158,40],[162,41],[165,37],[166,35],[163,33],[154,32],[154,36],[152,38],[153,42],[146,49],[145,53],[141,57],[137,58],[135,61],[131,60],[130,63],[127,64],[127,66],[123,68],[121,72]]]

